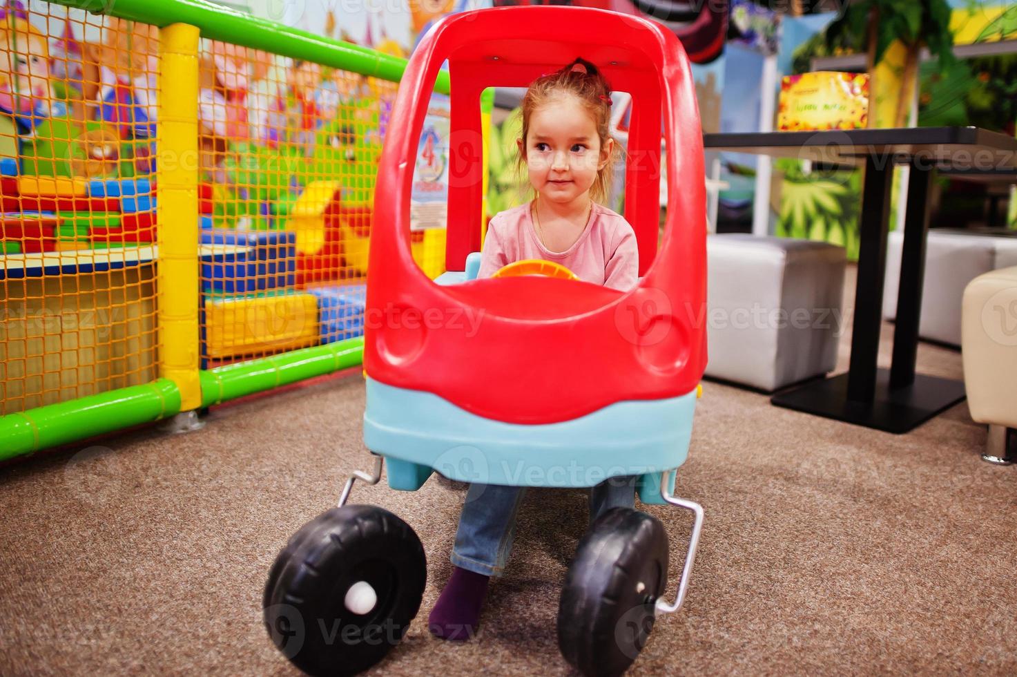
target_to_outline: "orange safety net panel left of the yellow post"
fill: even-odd
[[[0,414],[159,372],[159,31],[0,10]]]

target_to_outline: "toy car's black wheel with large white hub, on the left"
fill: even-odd
[[[376,506],[333,508],[279,554],[262,600],[273,642],[310,675],[354,675],[399,643],[420,610],[427,560],[409,524]],[[363,614],[346,607],[358,581],[376,595]]]

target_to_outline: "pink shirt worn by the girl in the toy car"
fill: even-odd
[[[487,226],[477,277],[490,277],[502,266],[526,259],[561,264],[584,282],[627,291],[639,277],[636,233],[620,214],[593,204],[583,234],[564,251],[547,249],[533,225],[530,205],[499,212]]]

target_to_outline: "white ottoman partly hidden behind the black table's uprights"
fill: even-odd
[[[903,244],[902,231],[890,233],[883,290],[883,317],[887,320],[897,317]],[[1017,266],[1017,238],[929,231],[918,336],[960,345],[960,308],[964,287],[982,273],[1006,266]]]

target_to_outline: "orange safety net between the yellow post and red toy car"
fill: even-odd
[[[199,64],[203,365],[362,335],[397,84],[208,40]],[[432,277],[443,235],[412,235]]]

